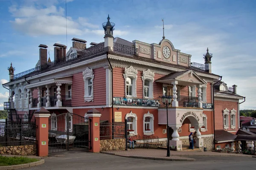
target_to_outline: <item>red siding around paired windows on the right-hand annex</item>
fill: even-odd
[[[229,128],[227,131],[230,130],[238,130],[238,109],[237,109],[237,102],[229,102],[229,101],[221,101],[215,100],[215,130],[224,130],[224,123],[223,123],[223,111],[225,108],[228,110],[232,110],[233,108],[236,110],[236,129],[231,129],[230,125],[230,114],[228,115],[228,125]]]

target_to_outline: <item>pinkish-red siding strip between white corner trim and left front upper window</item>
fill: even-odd
[[[114,97],[125,97],[125,79],[124,79],[125,68],[113,68],[113,96]],[[138,86],[137,86],[138,87]]]

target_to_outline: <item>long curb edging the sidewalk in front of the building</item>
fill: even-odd
[[[195,161],[195,159],[193,158],[172,158],[172,159],[168,159],[168,158],[159,158],[159,157],[146,157],[146,156],[125,156],[125,155],[119,155],[116,153],[108,153],[108,152],[100,152],[100,153],[104,153],[104,154],[108,154],[108,155],[115,155],[115,156],[122,156],[122,157],[127,157],[127,158],[137,158],[137,159],[150,159],[150,160],[162,160],[162,161]]]

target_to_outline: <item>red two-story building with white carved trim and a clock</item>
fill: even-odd
[[[189,144],[191,132],[197,132],[195,145],[208,150],[214,148],[214,128],[235,134],[243,97],[236,87],[231,92],[223,82],[215,83],[220,76],[212,73],[208,48],[204,64],[199,64],[164,36],[159,43],[129,42],[114,38],[113,26],[108,17],[103,23],[105,41],[91,42],[90,47],[73,38],[67,54],[65,45],[55,43],[52,62],[47,60],[47,45],[39,45],[38,63],[28,71],[14,74],[11,64],[10,82],[4,85],[10,89],[5,103],[9,119],[19,114],[31,119],[41,107],[52,117],[67,112],[87,117],[87,111],[96,108],[102,121],[127,119],[131,135],[156,135],[166,142],[169,127],[170,145],[177,150]],[[160,96],[172,97],[167,109]],[[67,119],[72,131],[73,119]],[[52,121],[51,128],[58,128],[58,121]]]

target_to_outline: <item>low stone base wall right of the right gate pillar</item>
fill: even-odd
[[[100,150],[125,150],[125,139],[100,140]]]

